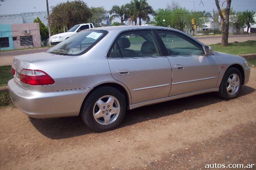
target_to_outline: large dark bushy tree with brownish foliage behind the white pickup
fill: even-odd
[[[67,26],[68,29],[76,24],[87,23],[92,17],[90,8],[81,0],[67,1],[52,7],[49,15],[49,25],[57,30]]]

